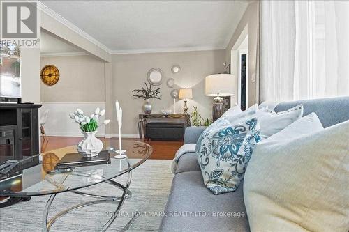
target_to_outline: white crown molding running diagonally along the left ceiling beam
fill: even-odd
[[[53,17],[54,20],[57,20],[61,24],[64,24],[64,26],[67,26],[70,30],[72,30],[75,33],[79,34],[83,38],[89,40],[89,42],[92,42],[94,45],[100,47],[105,52],[108,52],[109,54],[111,53],[110,49],[107,46],[103,45],[101,42],[99,42],[98,40],[96,40],[95,38],[90,36],[88,33],[86,33],[85,31],[82,31],[82,29],[80,29],[79,27],[75,26],[72,22],[66,20],[64,17],[59,15],[59,13],[57,13],[56,11],[54,11],[51,8],[49,8],[48,6],[46,6],[43,3],[43,1],[40,1],[40,10],[43,11],[43,13]]]

